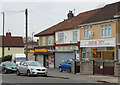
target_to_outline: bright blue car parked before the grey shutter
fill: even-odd
[[[62,71],[71,72],[71,63],[72,63],[72,59],[64,59],[64,60],[62,60],[62,62],[59,65],[60,72],[62,72]]]

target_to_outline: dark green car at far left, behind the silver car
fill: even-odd
[[[16,64],[10,61],[2,62],[0,66],[3,73],[11,73],[17,71]]]

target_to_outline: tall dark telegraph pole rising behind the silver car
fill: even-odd
[[[26,60],[28,60],[28,10],[25,9],[25,17],[26,17]]]

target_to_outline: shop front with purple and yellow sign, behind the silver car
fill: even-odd
[[[54,47],[35,47],[35,60],[47,68],[54,68]]]

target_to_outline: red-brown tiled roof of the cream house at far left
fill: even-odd
[[[2,36],[0,36],[0,46],[2,46]],[[5,47],[24,47],[22,37],[4,36]]]

